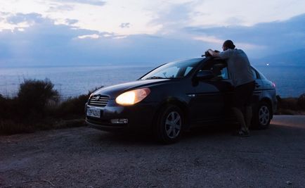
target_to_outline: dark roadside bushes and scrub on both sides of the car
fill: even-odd
[[[17,96],[0,94],[0,134],[33,132],[84,125],[84,105],[93,91],[60,101],[50,80],[25,80]],[[298,98],[277,96],[277,114],[305,115],[305,94]]]

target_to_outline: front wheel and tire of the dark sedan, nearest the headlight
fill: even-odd
[[[162,144],[172,144],[179,141],[183,121],[183,113],[178,106],[169,105],[162,108],[157,118],[157,141]]]

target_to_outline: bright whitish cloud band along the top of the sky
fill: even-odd
[[[176,31],[183,27],[252,26],[262,21],[287,20],[304,13],[304,4],[305,1],[284,0],[13,0],[13,4],[0,1],[0,9],[10,13],[39,13],[54,20],[78,20],[77,27],[117,35],[181,35]],[[128,30],[119,27],[127,22],[132,23]]]

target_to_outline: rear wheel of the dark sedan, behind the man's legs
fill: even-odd
[[[269,127],[272,117],[271,106],[265,101],[261,101],[252,116],[252,128],[265,130]]]

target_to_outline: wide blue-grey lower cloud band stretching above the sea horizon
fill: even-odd
[[[39,14],[7,15],[11,24],[33,23],[0,31],[0,66],[100,65],[129,63],[157,65],[200,56],[206,49],[221,49],[226,39],[247,49],[250,58],[304,49],[305,15],[252,27],[185,27],[173,35],[117,35],[55,24]]]

